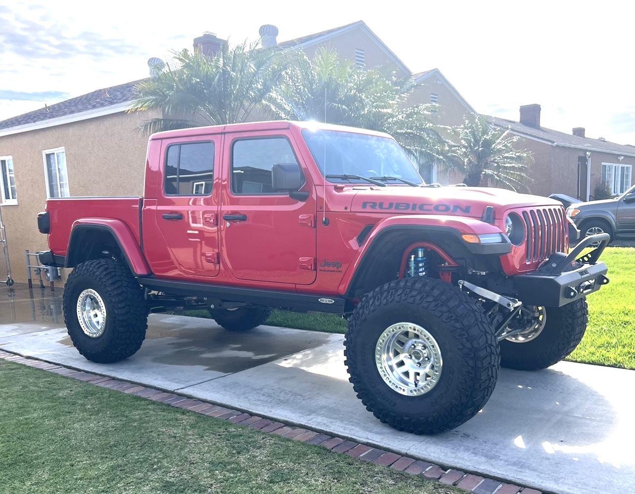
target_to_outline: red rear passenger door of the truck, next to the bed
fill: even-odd
[[[157,276],[216,276],[218,258],[219,136],[163,141],[163,183],[158,184],[154,222],[162,238],[148,242],[159,258]]]

